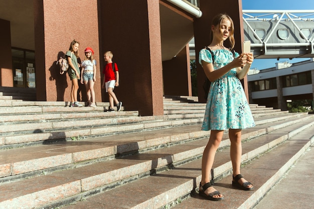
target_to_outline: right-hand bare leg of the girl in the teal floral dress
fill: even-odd
[[[229,129],[230,138],[230,158],[233,168],[233,176],[240,174],[241,166],[241,155],[242,155],[242,144],[241,144],[241,129]],[[240,184],[246,182],[244,178],[240,178]],[[253,187],[252,184],[247,186],[248,188]]]

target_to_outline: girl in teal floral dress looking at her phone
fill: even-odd
[[[240,80],[246,76],[254,58],[252,53],[241,55],[235,53],[233,56],[231,52],[235,45],[233,33],[232,19],[226,14],[217,15],[213,19],[212,42],[208,46],[214,58],[208,49],[202,49],[199,54],[199,62],[211,81],[202,125],[202,130],[211,130],[211,135],[202,158],[200,195],[216,201],[223,199],[224,196],[210,183],[211,169],[215,153],[226,129],[229,129],[231,141],[232,185],[243,190],[253,189],[253,185],[240,174],[241,129],[255,126]],[[227,39],[229,39],[231,50],[223,45]]]

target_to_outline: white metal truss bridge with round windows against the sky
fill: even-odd
[[[243,10],[243,27],[256,58],[314,57],[314,10]]]

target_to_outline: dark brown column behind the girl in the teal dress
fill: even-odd
[[[244,41],[244,29],[243,29],[243,15],[242,15],[242,0],[226,0],[224,5],[228,7],[221,7],[220,3],[213,3],[208,0],[200,0],[200,9],[203,13],[202,17],[196,19],[194,22],[194,38],[195,38],[195,54],[197,60],[197,81],[198,81],[198,96],[199,101],[206,102],[204,99],[203,83],[205,80],[205,73],[202,66],[198,63],[199,52],[204,46],[210,44],[210,32],[212,19],[219,13],[227,13],[233,20],[234,24],[234,38],[235,47],[234,50],[241,54],[242,42]],[[214,11],[214,12],[213,12]],[[230,47],[225,45],[226,47]],[[242,81],[242,85],[248,100],[248,86],[247,77]]]

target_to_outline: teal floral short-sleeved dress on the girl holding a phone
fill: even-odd
[[[230,63],[234,58],[229,50],[213,50],[214,70],[220,69]],[[235,53],[235,57],[239,54]],[[199,63],[202,60],[212,63],[212,55],[202,49],[199,53]],[[236,76],[236,69],[211,82],[207,97],[202,130],[245,129],[254,127],[254,119],[247,102],[242,84]]]

